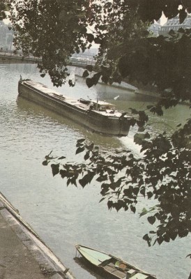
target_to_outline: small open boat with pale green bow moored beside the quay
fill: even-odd
[[[128,262],[125,262],[118,257],[114,257],[113,255],[108,255],[105,252],[79,244],[77,244],[75,248],[88,262],[93,264],[93,266],[97,266],[98,269],[105,273],[108,273],[112,278],[156,279],[155,276],[137,269],[137,267],[132,266],[131,264],[128,264]]]

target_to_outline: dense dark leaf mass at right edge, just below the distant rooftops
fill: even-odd
[[[121,39],[121,45],[116,57],[116,66],[119,75],[128,77],[130,81],[142,84],[155,84],[162,92],[162,100],[158,107],[151,108],[151,112],[162,115],[160,105],[166,108],[176,105],[179,100],[190,100],[191,75],[191,31],[180,30],[167,38],[128,38]],[[105,54],[109,56],[109,51]],[[114,49],[116,46],[114,46]],[[114,57],[115,59],[115,57]],[[107,60],[105,60],[106,63]],[[109,58],[107,63],[109,64]],[[112,74],[99,72],[102,80],[106,81]],[[170,89],[170,93],[167,90]]]

